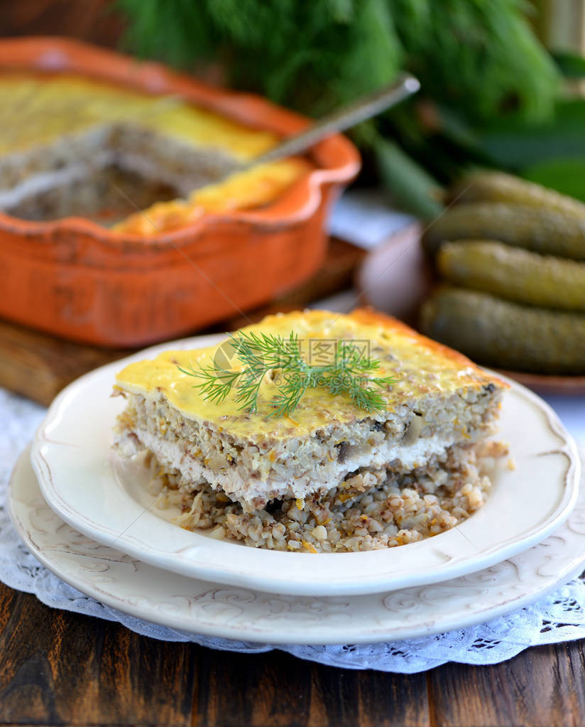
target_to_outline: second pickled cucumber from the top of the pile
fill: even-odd
[[[435,254],[445,241],[499,240],[542,254],[585,260],[585,217],[502,202],[469,202],[448,209],[423,237]]]

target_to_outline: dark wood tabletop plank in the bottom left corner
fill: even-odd
[[[13,594],[0,584],[0,723],[190,723],[192,645],[145,638]]]

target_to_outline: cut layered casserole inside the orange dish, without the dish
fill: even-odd
[[[312,168],[289,158],[241,171],[278,135],[77,74],[0,73],[0,116],[0,209],[26,220],[83,215],[154,235],[268,204]]]

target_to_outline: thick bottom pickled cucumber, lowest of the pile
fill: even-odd
[[[544,374],[585,373],[585,314],[529,308],[487,293],[437,289],[421,329],[480,364]]]

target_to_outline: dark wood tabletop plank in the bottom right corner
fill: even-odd
[[[584,666],[583,642],[530,648],[493,666],[445,664],[428,674],[432,724],[582,725]]]

